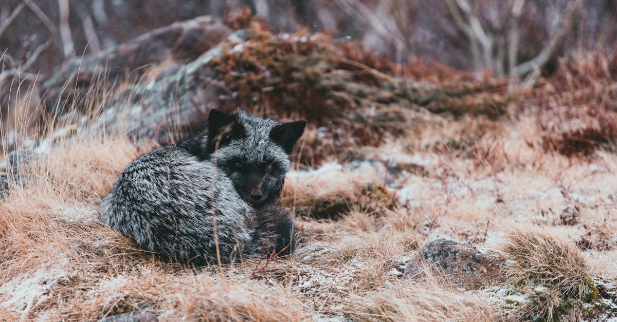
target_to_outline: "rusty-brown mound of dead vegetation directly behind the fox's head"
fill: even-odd
[[[275,33],[250,11],[235,19],[243,23],[234,25],[247,27],[249,41],[223,43],[222,56],[209,64],[225,88],[221,104],[309,120],[299,159],[306,165],[415,135],[418,129],[408,124],[438,123],[426,110],[497,118],[514,100],[507,81],[489,73],[477,77],[439,64],[397,65],[328,33]]]

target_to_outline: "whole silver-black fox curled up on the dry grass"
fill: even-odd
[[[193,265],[294,249],[276,204],[306,121],[212,110],[206,130],[140,155],[101,202],[101,221],[143,249]]]

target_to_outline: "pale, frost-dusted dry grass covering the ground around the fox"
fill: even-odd
[[[2,199],[0,320],[133,310],[162,320],[575,319],[583,302],[600,303],[592,278],[617,278],[614,242],[603,244],[617,234],[617,155],[545,149],[538,117],[439,118],[363,148],[375,167],[290,173],[282,202],[303,227],[297,252],[199,269],[160,262],[97,222],[100,198],[152,142],[78,128],[39,151]],[[478,291],[400,279],[439,237],[503,247],[510,279]]]

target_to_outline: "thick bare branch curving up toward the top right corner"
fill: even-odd
[[[534,70],[535,67],[544,66],[549,61],[550,56],[553,54],[557,46],[561,44],[561,41],[570,30],[570,27],[572,27],[574,17],[579,11],[581,4],[582,0],[574,0],[568,7],[568,10],[564,15],[565,17],[563,17],[560,23],[558,23],[557,30],[555,30],[555,34],[550,38],[549,43],[544,48],[542,48],[542,51],[540,51],[540,53],[536,57],[514,67],[513,70],[511,70],[510,74],[515,76],[522,76]]]

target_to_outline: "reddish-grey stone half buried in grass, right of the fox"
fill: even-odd
[[[465,289],[478,289],[500,276],[503,261],[491,254],[482,254],[476,247],[459,242],[436,239],[418,249],[407,264],[402,278],[426,278],[425,267],[435,277]]]

